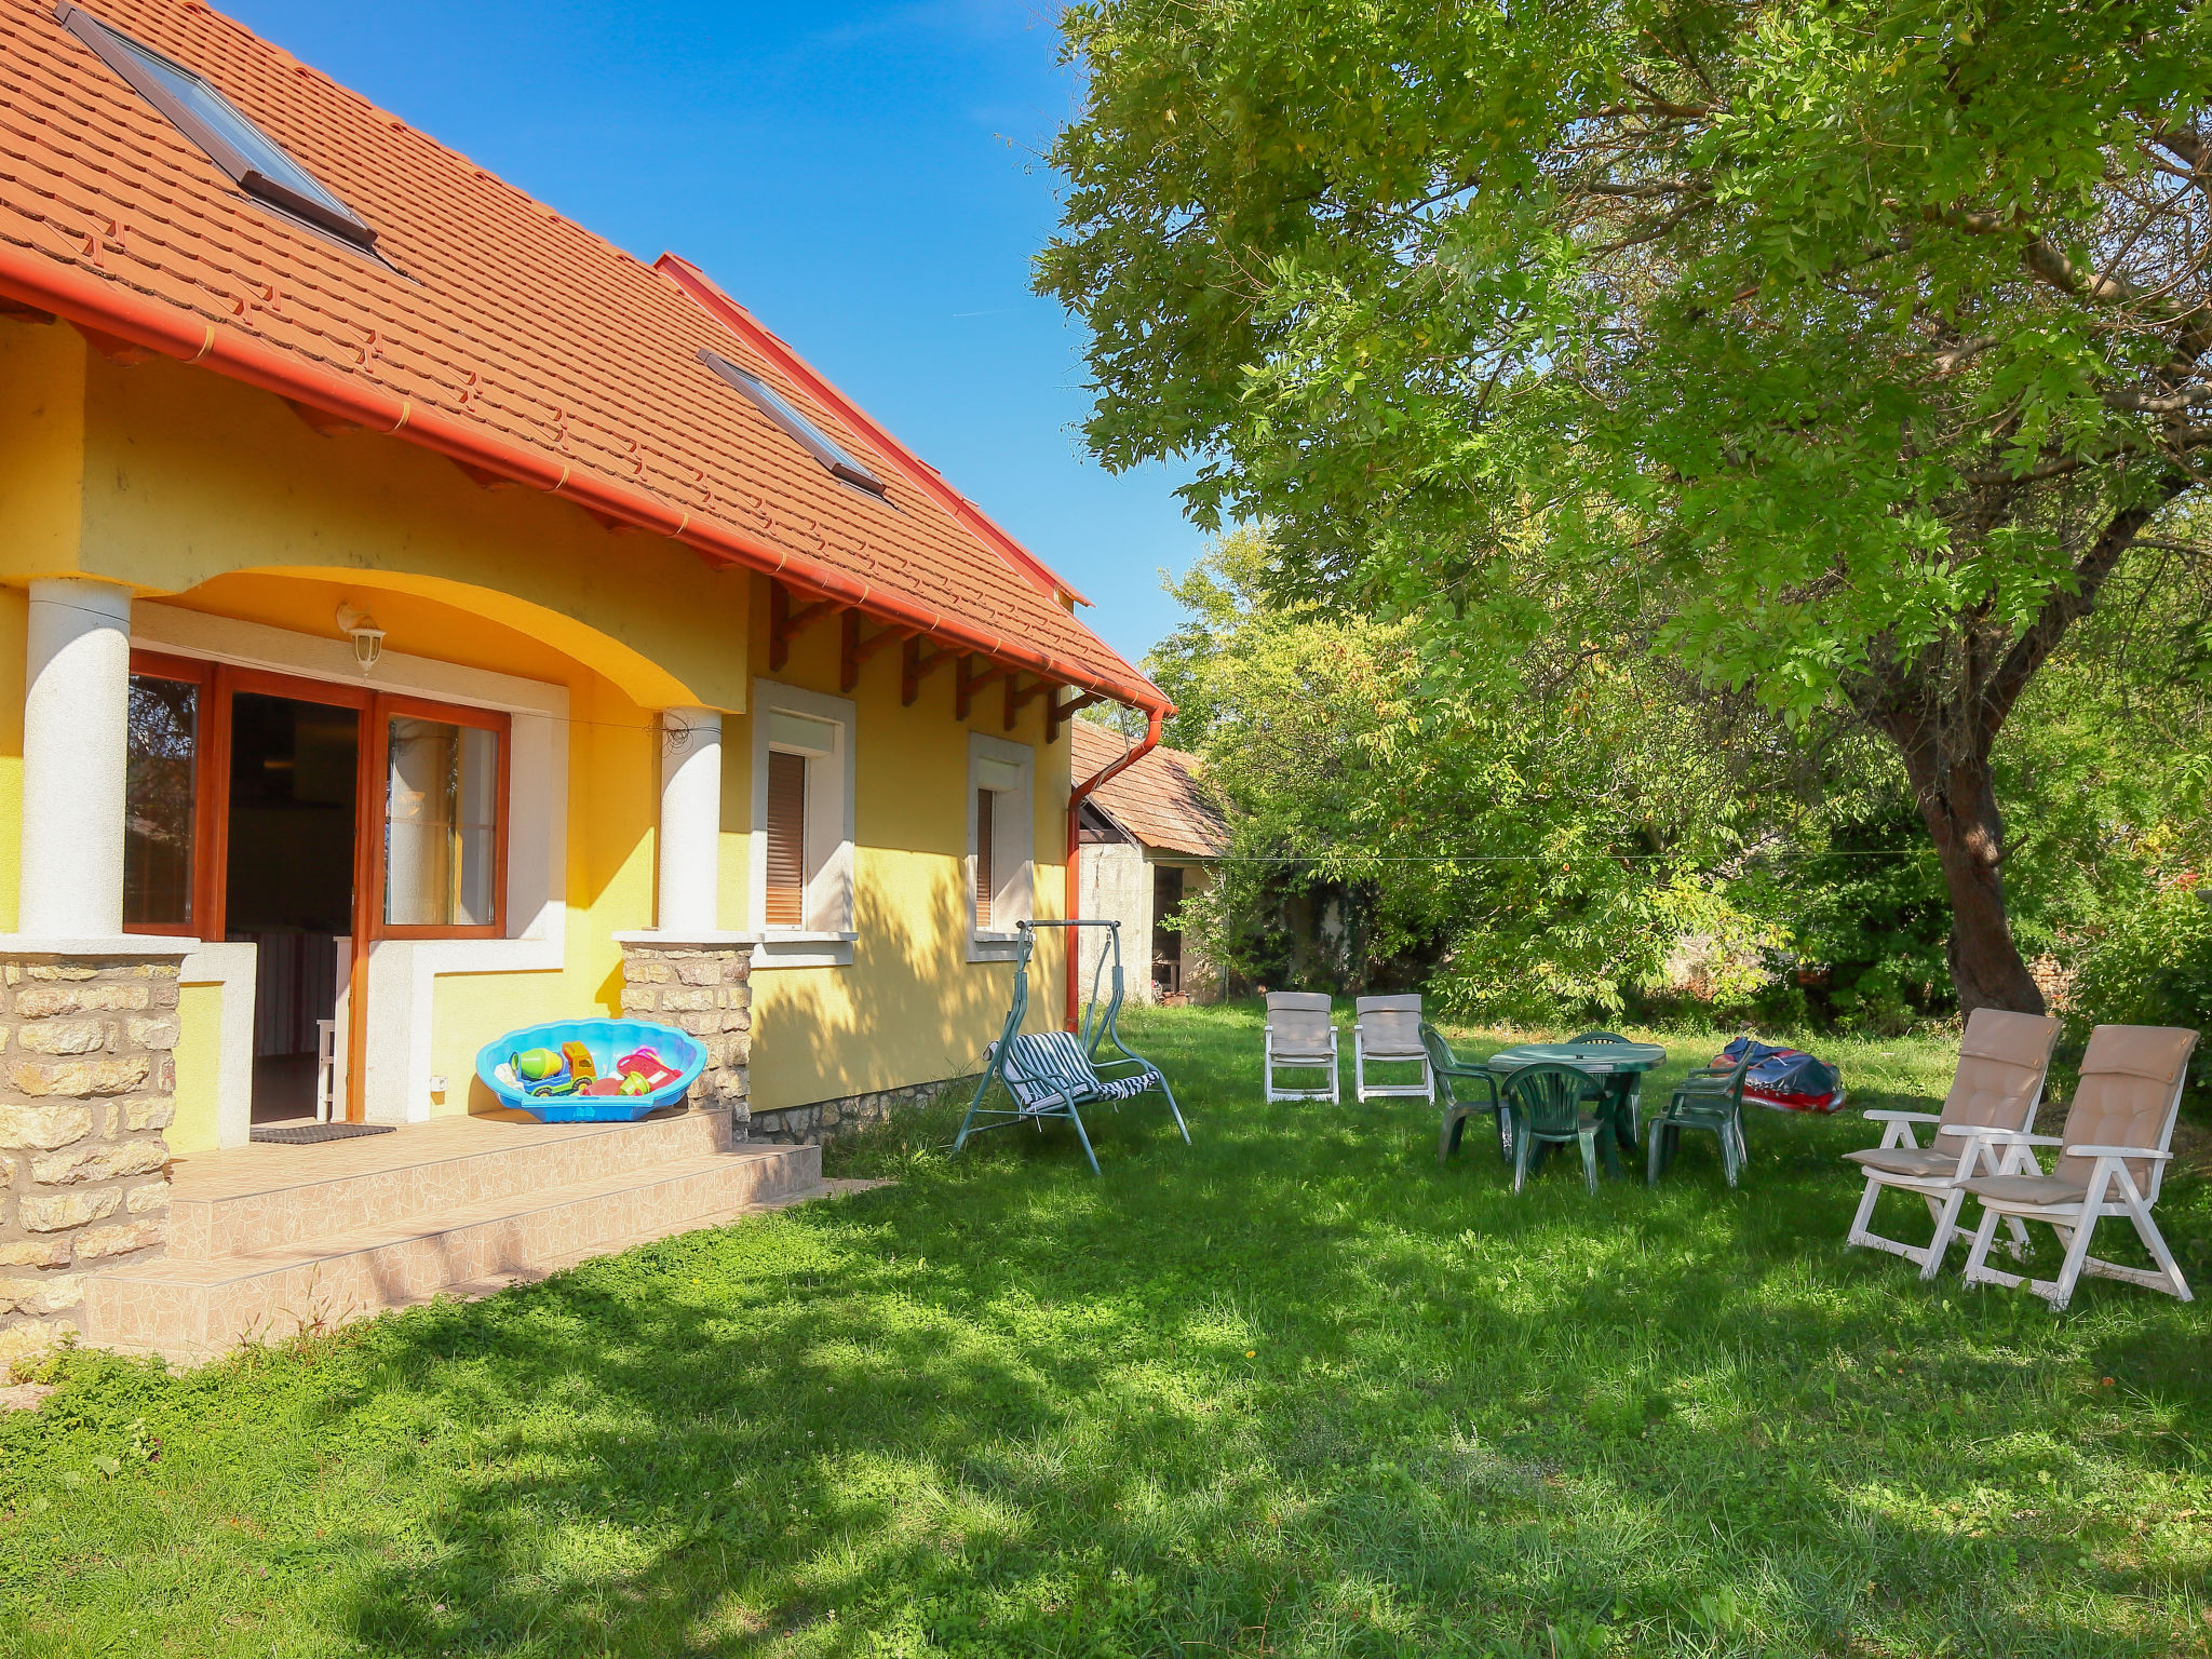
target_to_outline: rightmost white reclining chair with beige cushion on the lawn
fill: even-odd
[[[2197,1033],[2179,1026],[2097,1026],[2081,1055],[2081,1084],[2066,1110],[2066,1128],[2057,1135],[1989,1137],[2004,1155],[2004,1168],[1966,1181],[1966,1190],[1982,1201],[1982,1225],[1966,1252],[1971,1283],[2024,1283],[2053,1307],[2064,1307],[2081,1274],[2095,1274],[2190,1301],[2190,1285],[2159,1237],[2150,1206],[2159,1201],[2194,1046]],[[2051,1175],[2035,1161],[2037,1146],[2062,1148]],[[2000,1217],[2042,1221],[2066,1241],[2057,1279],[2024,1279],[1989,1265]],[[2121,1267],[2088,1254],[2097,1223],[2121,1217],[2135,1223],[2135,1237],[2157,1267]]]

